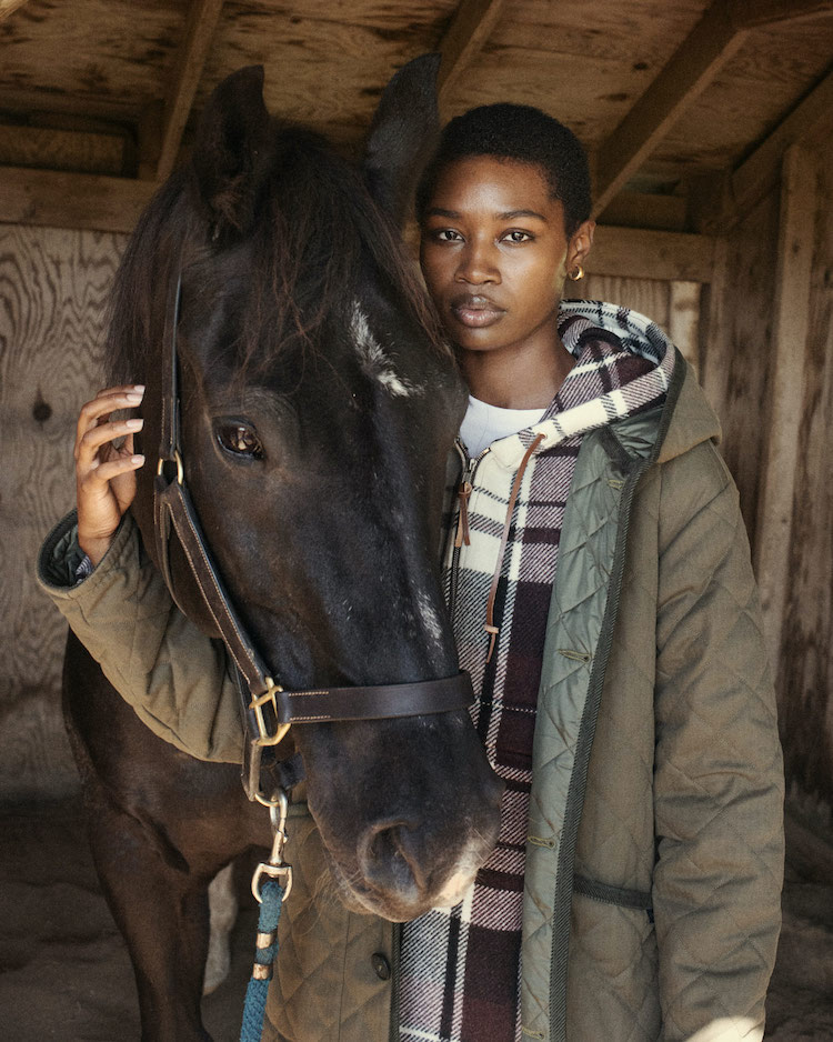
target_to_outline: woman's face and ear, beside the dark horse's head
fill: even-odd
[[[524,350],[558,343],[564,278],[591,241],[590,221],[568,238],[564,208],[541,168],[469,157],[440,172],[423,218],[420,263],[458,347]]]

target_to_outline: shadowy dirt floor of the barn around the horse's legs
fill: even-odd
[[[833,1042],[833,843],[791,819],[784,929],[769,1003],[772,1042]],[[235,1042],[255,912],[232,935],[229,979],[204,1000],[215,1042]],[[99,891],[78,802],[0,811],[0,1042],[139,1039],[130,962]],[[615,1040],[609,1040],[615,1042]]]

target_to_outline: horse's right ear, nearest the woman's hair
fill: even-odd
[[[385,87],[370,128],[364,177],[373,198],[398,224],[436,143],[439,69],[440,54],[423,54],[403,66]]]

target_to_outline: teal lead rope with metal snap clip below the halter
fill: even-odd
[[[292,889],[292,869],[283,862],[289,805],[287,793],[279,790],[271,800],[258,799],[269,808],[272,852],[269,861],[258,865],[252,878],[252,893],[260,901],[260,918],[252,976],[245,989],[240,1042],[260,1042],[263,1034],[269,982],[272,980],[272,964],[278,955],[278,920],[281,918],[283,899],[289,896]]]

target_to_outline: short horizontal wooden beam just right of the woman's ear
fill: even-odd
[[[585,268],[593,274],[710,282],[714,239],[600,224]]]

